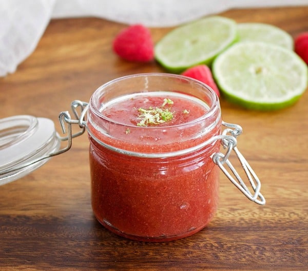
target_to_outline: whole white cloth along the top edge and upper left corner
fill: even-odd
[[[230,8],[308,5],[308,0],[0,0],[0,76],[36,48],[51,18],[95,16],[170,27]]]

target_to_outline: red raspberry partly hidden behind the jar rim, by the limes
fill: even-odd
[[[209,86],[211,89],[213,89],[216,92],[218,97],[220,96],[219,90],[213,79],[211,71],[206,65],[198,65],[195,67],[191,67],[187,69],[186,71],[184,71],[182,75],[197,79],[205,83],[207,86]]]

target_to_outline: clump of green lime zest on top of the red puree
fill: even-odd
[[[167,104],[173,105],[173,103],[174,102],[172,100],[165,98],[161,108],[139,108],[138,111],[141,112],[141,114],[138,117],[141,119],[141,121],[137,123],[137,126],[148,126],[148,124],[159,124],[171,120],[174,116],[174,113],[171,112],[168,108],[162,108]]]

